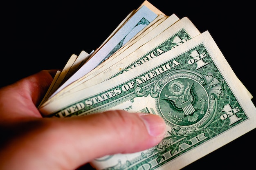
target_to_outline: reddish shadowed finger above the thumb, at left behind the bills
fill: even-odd
[[[41,117],[35,105],[52,82],[55,70],[43,70],[0,89],[1,118]]]

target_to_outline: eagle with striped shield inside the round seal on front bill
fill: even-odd
[[[169,94],[164,94],[163,100],[176,113],[183,113],[183,117],[188,117],[188,121],[194,122],[198,119],[198,114],[195,113],[197,108],[195,104],[198,102],[198,95],[195,90],[194,83],[187,82],[186,86],[179,80],[174,80],[168,84]]]

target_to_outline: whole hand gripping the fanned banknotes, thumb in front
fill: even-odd
[[[157,115],[115,110],[43,118],[37,106],[55,73],[40,71],[0,88],[1,170],[74,170],[104,155],[145,150],[164,137]]]

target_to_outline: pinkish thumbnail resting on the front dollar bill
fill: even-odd
[[[163,137],[166,132],[166,124],[164,119],[158,115],[140,113],[140,118],[144,121],[148,134],[154,137],[161,136]]]

